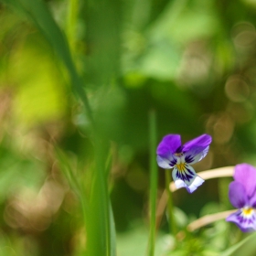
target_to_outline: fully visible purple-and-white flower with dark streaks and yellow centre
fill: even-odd
[[[203,134],[194,140],[181,144],[179,134],[166,135],[158,145],[157,163],[165,169],[174,168],[173,179],[176,187],[186,187],[192,193],[204,180],[197,176],[193,165],[208,154],[211,136]]]

